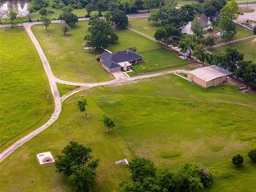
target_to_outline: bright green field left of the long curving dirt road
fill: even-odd
[[[0,29],[0,33],[2,151],[44,124],[54,104],[44,67],[24,28]]]

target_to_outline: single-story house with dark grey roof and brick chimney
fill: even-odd
[[[143,57],[140,54],[129,49],[115,53],[104,52],[100,56],[102,68],[110,73],[121,71],[124,67],[143,61]]]

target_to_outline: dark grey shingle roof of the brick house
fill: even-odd
[[[126,53],[127,50],[129,54]],[[100,56],[100,59],[103,60],[102,64],[104,64],[109,69],[121,67],[121,65],[118,63],[129,62],[143,58],[140,54],[129,49],[115,53],[104,52]]]

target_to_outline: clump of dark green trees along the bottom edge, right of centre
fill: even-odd
[[[212,184],[212,174],[196,163],[186,163],[173,173],[168,168],[156,169],[154,163],[145,158],[134,158],[128,169],[132,181],[119,184],[122,192],[192,192]]]

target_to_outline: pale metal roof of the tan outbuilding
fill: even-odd
[[[195,70],[188,72],[188,74],[192,74],[193,76],[195,76],[201,80],[204,80],[205,82],[226,76],[226,74],[224,74],[220,71],[217,71],[210,66],[197,68]]]

